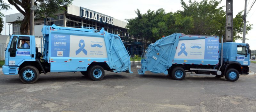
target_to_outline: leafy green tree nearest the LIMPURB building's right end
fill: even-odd
[[[135,13],[138,17],[126,19],[128,21],[126,28],[134,36],[143,36],[145,44],[148,41],[154,43],[162,36],[186,32],[189,28],[193,28],[193,18],[183,17],[180,13],[166,13],[164,9],[158,9],[156,12],[148,10],[144,14],[137,9]]]

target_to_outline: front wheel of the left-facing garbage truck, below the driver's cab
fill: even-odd
[[[25,66],[19,73],[20,81],[25,84],[35,83],[39,78],[39,71],[34,66]]]

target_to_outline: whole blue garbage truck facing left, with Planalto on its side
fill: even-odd
[[[44,26],[43,50],[38,52],[35,36],[12,35],[5,49],[5,75],[18,75],[23,83],[35,83],[40,73],[81,72],[94,81],[104,70],[131,72],[130,54],[119,35],[102,28]]]

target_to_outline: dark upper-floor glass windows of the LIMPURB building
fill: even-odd
[[[120,28],[110,24],[103,24],[98,21],[92,21],[92,20],[87,20],[80,17],[74,17],[72,15],[64,14],[64,15],[56,15],[54,17],[48,17],[46,18],[46,23],[49,23],[48,25],[55,24],[56,26],[72,27],[72,28],[83,27],[83,28],[94,28],[97,30],[104,28],[105,31],[111,34],[119,34],[122,40],[125,39],[125,37],[128,37],[129,41],[143,42],[143,38],[141,36],[130,35],[129,33],[127,33],[126,28]],[[41,22],[40,24],[43,24],[43,23]],[[13,34],[15,35],[20,34],[20,23],[13,24]],[[124,41],[128,41],[128,40],[124,40]]]

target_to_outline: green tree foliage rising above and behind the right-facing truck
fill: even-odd
[[[186,33],[192,35],[225,35],[226,12],[220,6],[222,0],[202,0],[201,2],[180,0],[183,10],[166,13],[164,9],[148,10],[141,14],[137,9],[138,17],[126,19],[128,32],[132,35],[144,37],[144,42],[155,42],[164,35],[172,33]],[[243,12],[243,11],[242,11]],[[234,18],[233,40],[242,39],[243,15],[239,12]],[[252,24],[246,26],[246,33],[252,29]]]

